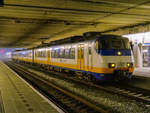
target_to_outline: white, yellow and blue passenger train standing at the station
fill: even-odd
[[[128,38],[99,32],[87,32],[36,48],[16,50],[12,52],[12,60],[98,81],[131,79],[134,71]]]

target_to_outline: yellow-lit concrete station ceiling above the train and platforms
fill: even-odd
[[[4,0],[0,47],[35,47],[88,31],[150,30],[150,0]]]

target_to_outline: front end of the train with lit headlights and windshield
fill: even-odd
[[[131,79],[134,64],[127,38],[106,35],[98,38],[95,44],[96,51],[101,59],[101,79],[116,81]]]

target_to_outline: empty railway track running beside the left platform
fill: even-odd
[[[18,64],[6,63],[19,75],[30,82],[34,87],[40,90],[51,101],[57,104],[65,112],[68,113],[108,113],[103,109],[103,106],[97,106],[89,100],[83,97],[73,94],[67,89],[58,86],[47,79],[41,78],[37,74],[30,72],[19,66]]]

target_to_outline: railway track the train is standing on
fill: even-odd
[[[29,66],[29,67],[32,68],[32,66]],[[34,68],[34,69],[36,69],[36,68]],[[62,74],[60,72],[52,72],[52,71],[45,72],[45,69],[43,69],[43,68],[40,68],[40,71],[42,71],[44,73],[54,75],[54,76],[59,75],[59,77],[61,79],[65,79],[65,80],[68,80],[68,81],[80,83],[80,84],[89,86],[91,88],[104,90],[108,93],[121,95],[121,96],[124,96],[126,98],[136,100],[138,102],[143,102],[143,103],[147,104],[148,106],[150,106],[150,91],[149,90],[144,90],[144,89],[141,89],[141,88],[133,87],[131,85],[128,85],[127,83],[126,84],[119,83],[119,85],[116,84],[116,83],[109,84],[109,85],[104,85],[104,84],[97,85],[97,84],[89,82],[89,81],[87,82],[85,80],[76,79],[76,78],[74,78],[73,76],[70,76],[70,75],[66,76],[66,73]]]

